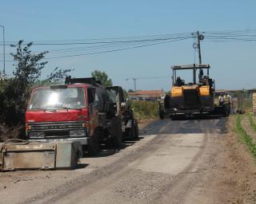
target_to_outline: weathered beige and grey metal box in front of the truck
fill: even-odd
[[[75,168],[80,143],[0,143],[0,170]]]

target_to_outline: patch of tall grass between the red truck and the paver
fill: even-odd
[[[158,102],[155,101],[132,101],[134,115],[138,120],[158,117]]]

